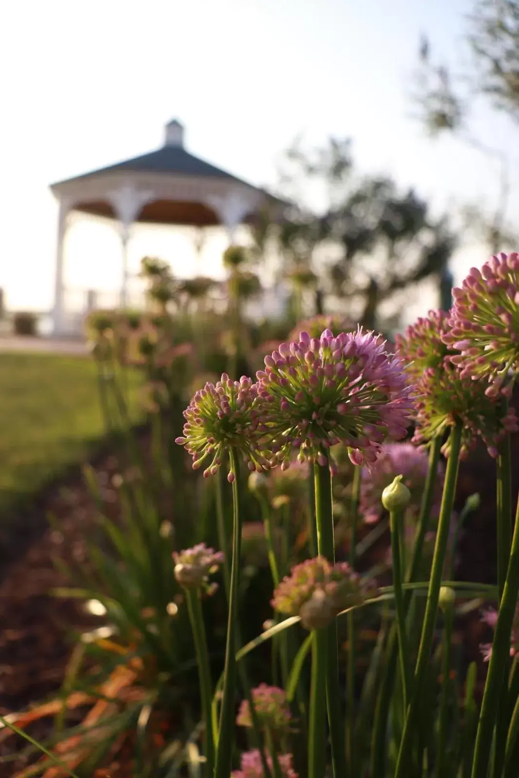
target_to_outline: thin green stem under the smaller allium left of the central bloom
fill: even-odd
[[[229,451],[230,468],[235,474],[233,481],[233,558],[230,573],[229,618],[227,621],[227,643],[223,671],[223,699],[220,710],[219,738],[216,749],[215,778],[229,778],[233,766],[233,732],[236,702],[236,652],[238,624],[238,587],[240,584],[240,490],[238,489],[236,454]]]

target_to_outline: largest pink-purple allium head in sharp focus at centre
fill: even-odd
[[[300,461],[326,464],[335,443],[349,447],[354,464],[377,459],[381,443],[407,432],[412,405],[400,359],[387,354],[372,332],[324,330],[321,338],[300,333],[265,356],[258,376],[264,401],[262,429],[282,467],[293,447]]]

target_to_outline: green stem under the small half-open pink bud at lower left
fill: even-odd
[[[215,743],[212,734],[212,681],[211,668],[209,665],[209,654],[207,650],[207,640],[205,638],[204,616],[202,614],[202,601],[200,590],[184,590],[188,601],[189,619],[193,638],[195,640],[196,660],[198,663],[198,678],[200,682],[200,696],[202,697],[202,717],[205,724],[204,734],[204,754],[206,764],[206,774],[211,776],[215,765]]]

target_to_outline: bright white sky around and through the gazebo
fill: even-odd
[[[391,173],[438,209],[493,202],[488,160],[452,140],[431,143],[412,121],[410,75],[419,35],[457,57],[470,0],[19,0],[0,12],[0,286],[10,308],[51,306],[57,209],[48,184],[144,153],[178,117],[198,156],[256,184],[300,131],[350,135],[366,173]],[[459,61],[459,60],[458,60]],[[493,114],[480,138],[517,147]],[[519,153],[517,154],[519,158]],[[514,182],[519,176],[515,167]],[[517,187],[516,187],[517,189]],[[517,212],[517,195],[512,202]],[[512,212],[514,212],[512,210]],[[75,219],[71,288],[117,288],[117,233]],[[135,230],[132,265],[159,254],[177,265],[187,244]],[[455,272],[480,264],[478,248]],[[191,259],[190,259],[191,261]],[[209,257],[214,269],[214,256]]]

